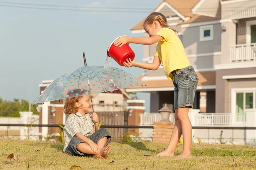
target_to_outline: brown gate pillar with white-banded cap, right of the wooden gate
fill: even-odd
[[[127,100],[128,106],[128,125],[140,125],[140,114],[144,113],[145,100]],[[128,129],[128,134],[139,134],[139,129]]]

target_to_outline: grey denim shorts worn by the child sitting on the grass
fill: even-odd
[[[86,136],[87,138],[91,139],[94,143],[97,143],[100,139],[104,138],[105,136],[107,136],[107,143],[105,144],[105,146],[107,146],[110,142],[111,142],[111,135],[110,133],[108,133],[107,129],[104,128],[100,128],[99,130],[97,130],[95,133],[93,133],[90,136]],[[82,141],[82,139],[74,136],[71,140],[70,143],[68,144],[65,153],[69,154],[69,155],[73,155],[73,156],[77,156],[77,155],[88,155],[86,153],[82,153],[80,152],[76,146],[79,143],[85,143],[84,141]]]

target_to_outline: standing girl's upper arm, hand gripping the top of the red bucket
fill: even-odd
[[[161,37],[160,35],[152,35],[151,37],[119,37],[119,39],[117,39],[114,42],[114,45],[119,47],[122,47],[123,45],[127,44],[127,43],[134,43],[134,44],[143,44],[143,45],[152,45],[158,41],[163,40],[163,37]]]

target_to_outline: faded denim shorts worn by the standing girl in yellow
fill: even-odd
[[[172,71],[174,84],[174,109],[193,108],[198,75],[192,66]]]

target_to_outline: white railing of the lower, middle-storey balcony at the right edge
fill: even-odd
[[[229,60],[230,62],[256,61],[256,43],[230,45]]]

